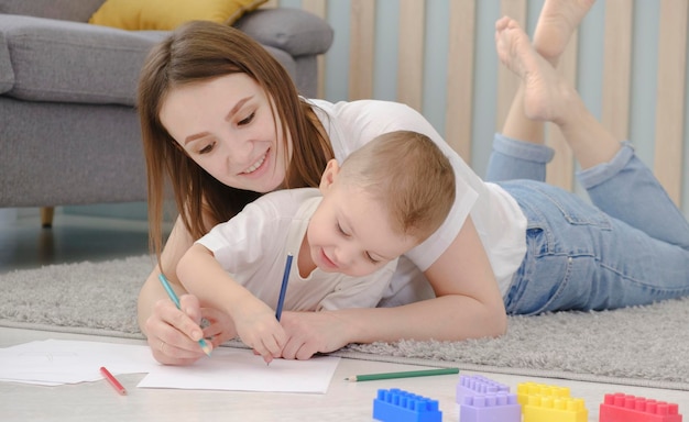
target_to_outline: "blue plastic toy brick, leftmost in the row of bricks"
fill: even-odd
[[[378,390],[373,400],[373,419],[383,422],[440,422],[438,401],[393,388]]]

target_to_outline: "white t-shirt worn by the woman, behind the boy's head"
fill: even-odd
[[[405,104],[379,100],[337,103],[308,101],[315,106],[314,110],[330,136],[339,163],[385,132],[407,130],[430,137],[449,157],[455,168],[457,199],[442,226],[426,242],[408,252],[406,257],[422,271],[428,269],[457,237],[470,214],[488,253],[500,290],[505,295],[512,276],[526,253],[526,218],[514,198],[500,186],[481,180],[430,123]],[[393,284],[397,284],[397,280],[405,284],[416,278],[417,275],[411,274],[400,277],[395,275]],[[404,286],[393,286],[393,291],[389,291],[386,297],[403,288]],[[397,300],[395,304],[404,301]]]

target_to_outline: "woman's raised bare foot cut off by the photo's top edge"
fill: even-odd
[[[557,65],[569,38],[594,2],[595,0],[546,0],[534,32],[534,48],[551,65]]]

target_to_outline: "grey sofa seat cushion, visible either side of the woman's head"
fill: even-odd
[[[153,44],[168,34],[2,14],[0,29],[0,88],[4,88],[0,92],[4,96],[124,106],[135,104],[143,62]],[[293,57],[277,48],[266,49],[295,78]],[[4,59],[3,51],[9,52]]]

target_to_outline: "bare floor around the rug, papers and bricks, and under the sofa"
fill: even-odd
[[[13,269],[85,259],[106,260],[138,255],[145,251],[146,224],[140,221],[57,213],[54,226],[50,230],[41,227],[37,215],[22,216],[11,224],[0,224],[0,277]],[[44,338],[139,342],[0,327],[0,347]],[[459,406],[455,402],[458,380],[456,375],[368,382],[343,381],[344,377],[354,374],[411,369],[420,368],[342,359],[326,395],[138,389],[136,384],[143,378],[140,374],[121,377],[129,391],[124,397],[117,395],[106,381],[61,387],[0,382],[0,421],[372,421],[372,400],[381,388],[401,388],[439,400],[444,412],[442,421],[458,421]],[[687,391],[489,373],[482,375],[506,384],[512,391],[516,390],[517,384],[526,381],[569,387],[572,397],[584,400],[589,411],[588,421],[599,421],[598,409],[604,395],[617,391],[678,403],[680,413],[689,418]]]

